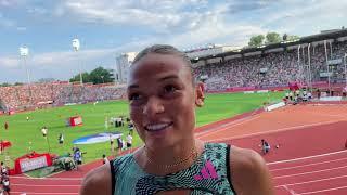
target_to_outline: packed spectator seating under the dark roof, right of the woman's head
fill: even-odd
[[[346,51],[346,41],[333,43],[332,50],[327,47],[327,57],[329,60],[342,58]],[[321,81],[320,73],[327,69],[324,46],[311,47],[310,56],[312,82]],[[307,47],[300,50],[300,66],[298,65],[297,49],[294,49],[221,61],[196,67],[193,72],[197,78],[208,77],[205,81],[208,91],[226,91],[234,87],[270,88],[300,81],[305,78],[304,72],[300,70],[304,69],[303,64],[308,64]],[[267,72],[260,73],[260,68],[267,68]],[[306,76],[306,78],[308,77]],[[344,66],[336,66],[331,82],[344,82]]]

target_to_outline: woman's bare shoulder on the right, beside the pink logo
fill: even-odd
[[[273,195],[272,179],[264,158],[253,150],[231,148],[231,181],[236,193]]]

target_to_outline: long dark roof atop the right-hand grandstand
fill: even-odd
[[[300,37],[296,41],[286,41],[286,42],[282,41],[279,43],[265,44],[261,47],[252,47],[252,48],[240,49],[236,51],[228,51],[228,52],[219,53],[216,55],[207,55],[204,57],[200,57],[198,61],[216,58],[216,57],[224,57],[224,56],[237,55],[237,54],[241,54],[242,56],[244,56],[245,53],[253,53],[253,52],[259,52],[259,51],[264,53],[265,51],[271,50],[271,49],[281,49],[281,48],[286,49],[287,47],[291,47],[291,46],[299,46],[299,44],[312,43],[317,41],[324,41],[324,40],[331,40],[331,39],[336,40],[337,38],[340,38],[340,37],[347,37],[347,29],[343,28],[343,29],[336,29],[336,30],[326,30],[318,35]],[[192,61],[197,62],[196,60],[192,60]]]

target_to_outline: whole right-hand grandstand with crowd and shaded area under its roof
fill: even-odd
[[[347,36],[347,31],[344,30],[344,36]],[[287,86],[288,82],[308,83],[308,64],[310,64],[311,73],[310,82],[327,83],[327,77],[322,77],[321,73],[330,72],[332,73],[331,83],[344,83],[345,68],[342,60],[347,52],[347,41],[346,39],[342,41],[333,39],[327,43],[326,50],[324,41],[318,39],[310,46],[297,43],[291,49],[288,46],[278,46],[275,49],[279,50],[273,52],[268,52],[270,49],[255,49],[249,52],[258,53],[252,56],[245,55],[246,52],[209,56],[220,58],[220,61],[197,66],[193,73],[197,78],[205,78],[208,91],[230,91],[229,89],[237,87],[266,89]],[[239,55],[239,57],[224,60],[230,55]],[[327,61],[339,61],[327,70],[326,58]],[[203,58],[202,61],[208,62],[208,60]]]

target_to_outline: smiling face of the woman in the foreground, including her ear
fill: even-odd
[[[149,147],[172,146],[193,139],[194,109],[202,96],[179,56],[150,53],[131,66],[130,117]]]

